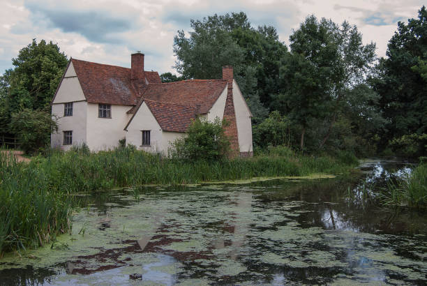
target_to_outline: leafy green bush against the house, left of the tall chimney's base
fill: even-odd
[[[230,140],[224,134],[226,121],[196,119],[188,127],[186,137],[172,143],[170,156],[188,160],[225,160],[230,151]]]

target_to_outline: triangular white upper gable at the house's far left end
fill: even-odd
[[[84,97],[82,86],[80,86],[80,82],[75,75],[73,63],[70,63],[52,104],[80,100],[86,100],[86,98]]]

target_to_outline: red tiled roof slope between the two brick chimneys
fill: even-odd
[[[207,113],[227,86],[225,80],[183,80],[166,84],[148,84],[142,98],[198,106],[199,113]]]

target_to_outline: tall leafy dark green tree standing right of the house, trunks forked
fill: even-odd
[[[310,119],[328,120],[322,148],[345,105],[347,91],[371,73],[375,44],[363,45],[361,33],[348,22],[338,25],[314,15],[306,17],[290,42],[292,55],[282,61],[281,92],[274,104],[302,126],[301,149]]]

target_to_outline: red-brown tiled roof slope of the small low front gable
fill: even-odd
[[[186,132],[196,118],[197,107],[144,100],[163,131]]]

